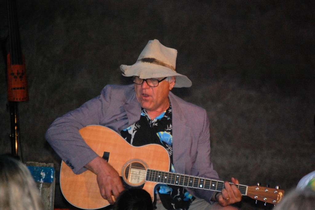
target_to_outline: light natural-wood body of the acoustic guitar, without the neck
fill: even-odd
[[[145,182],[146,169],[169,171],[169,154],[164,147],[157,144],[134,147],[112,129],[98,125],[84,127],[79,132],[95,153],[108,159],[125,183],[131,187],[143,186],[153,201],[153,189],[157,183]],[[98,209],[110,205],[101,197],[96,175],[91,171],[76,175],[62,162],[60,187],[66,200],[75,207]]]

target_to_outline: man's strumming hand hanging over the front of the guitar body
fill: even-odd
[[[101,157],[93,159],[85,165],[85,168],[96,174],[96,181],[102,197],[110,204],[114,204],[118,195],[124,190],[117,171]]]

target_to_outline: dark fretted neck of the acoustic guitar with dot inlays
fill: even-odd
[[[221,192],[222,189],[224,189],[224,182],[222,181],[188,176],[166,171],[158,171],[153,169],[147,170],[146,181],[219,192]],[[248,186],[240,184],[235,184],[235,186],[239,189],[242,195],[247,195]]]

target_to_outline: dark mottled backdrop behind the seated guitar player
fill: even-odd
[[[315,170],[313,1],[17,1],[29,101],[19,103],[23,161],[60,158],[52,121],[97,96],[151,39],[178,50],[192,80],[174,89],[208,111],[212,160],[224,180],[289,190]],[[11,151],[7,10],[0,2],[0,153]],[[65,202],[56,188],[56,207]],[[244,198],[243,209],[253,209]],[[257,207],[258,208],[258,207]]]

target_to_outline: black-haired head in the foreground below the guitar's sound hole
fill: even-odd
[[[153,210],[152,199],[144,189],[127,189],[119,195],[114,210]]]

